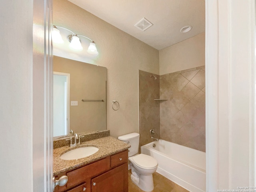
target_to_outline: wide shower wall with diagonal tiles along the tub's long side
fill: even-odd
[[[205,152],[204,66],[160,76],[160,138]]]

